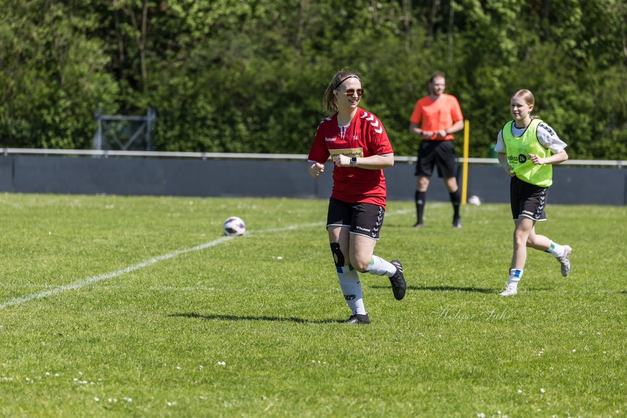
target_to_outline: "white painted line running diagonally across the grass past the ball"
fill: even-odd
[[[396,212],[391,213],[391,215],[403,214],[403,213],[407,213],[407,212],[410,212],[410,211],[409,210],[396,211]],[[249,234],[269,233],[269,232],[278,232],[278,231],[289,231],[291,229],[298,229],[298,228],[312,227],[312,226],[320,226],[320,227],[322,227],[322,222],[314,223],[314,224],[291,225],[291,226],[282,227],[282,228],[261,229],[259,231],[254,231],[253,230],[253,231],[250,231]],[[56,295],[57,293],[61,293],[61,292],[64,292],[66,290],[80,289],[80,288],[83,288],[85,286],[92,285],[93,283],[97,283],[98,281],[108,280],[108,279],[112,279],[112,278],[117,277],[117,276],[122,276],[122,274],[126,274],[126,273],[130,273],[131,271],[139,270],[140,268],[144,268],[144,267],[150,266],[151,264],[159,263],[159,261],[164,261],[164,260],[167,260],[167,259],[171,259],[171,258],[180,256],[181,254],[191,253],[192,251],[199,251],[201,249],[213,247],[215,245],[218,245],[220,243],[223,243],[224,241],[228,241],[229,239],[233,239],[233,238],[234,237],[222,237],[222,238],[214,239],[213,241],[209,241],[208,243],[200,244],[200,245],[192,247],[192,248],[181,249],[179,251],[174,251],[174,253],[164,254],[162,256],[157,256],[157,257],[154,257],[154,258],[150,258],[150,259],[147,259],[146,261],[144,261],[142,263],[135,264],[133,266],[129,266],[129,267],[117,270],[117,271],[112,271],[110,273],[100,274],[100,276],[92,276],[92,277],[84,279],[84,280],[75,281],[74,283],[70,283],[68,285],[57,286],[55,288],[52,288],[52,289],[46,290],[46,291],[42,291],[40,293],[32,293],[31,295],[22,296],[21,298],[11,299],[9,301],[1,303],[0,304],[0,309],[8,308],[9,306],[13,306],[13,305],[19,305],[21,303],[28,302],[29,300],[40,299],[40,298],[45,298],[46,296]]]

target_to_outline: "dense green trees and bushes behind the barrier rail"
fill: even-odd
[[[0,144],[90,148],[97,108],[151,106],[157,150],[307,153],[349,68],[398,155],[438,71],[472,157],[529,88],[571,158],[627,159],[626,22],[624,0],[0,0]]]

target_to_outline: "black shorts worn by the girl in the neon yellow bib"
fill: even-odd
[[[518,221],[520,216],[529,217],[534,221],[546,221],[547,214],[544,207],[547,204],[549,187],[542,187],[512,177],[510,180],[510,203],[512,205],[512,217]]]

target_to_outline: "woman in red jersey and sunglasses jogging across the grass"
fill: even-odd
[[[340,288],[352,310],[347,323],[370,323],[357,271],[387,276],[397,300],[406,290],[401,262],[372,255],[386,206],[382,169],[394,165],[394,154],[379,119],[358,107],[363,94],[356,73],[334,75],[323,99],[330,116],[320,122],[308,157],[314,177],[324,172],[329,157],[334,162],[327,232]]]

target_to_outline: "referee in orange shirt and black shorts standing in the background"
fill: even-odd
[[[444,93],[446,80],[436,73],[429,79],[429,94],[416,103],[409,118],[409,131],[421,138],[416,164],[416,214],[418,221],[414,228],[423,227],[424,204],[429,187],[429,178],[433,166],[438,167],[439,177],[444,184],[453,204],[453,227],[461,228],[460,191],[455,177],[455,154],[453,153],[453,133],[464,128],[460,103],[455,96]],[[422,122],[422,123],[421,123]],[[421,127],[418,127],[421,123]]]

